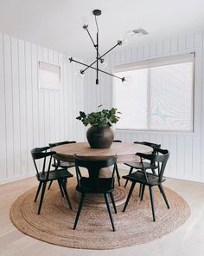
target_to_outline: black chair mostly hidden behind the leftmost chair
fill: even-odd
[[[72,143],[76,143],[76,141],[61,141],[61,142],[49,143],[49,147],[54,148],[54,147],[57,147],[57,146],[67,145],[67,144],[72,144]],[[68,169],[68,168],[74,167],[74,162],[72,162],[72,161],[60,161],[60,160],[56,160],[54,158],[54,163],[52,164],[52,167],[54,167],[55,170],[57,170],[59,167],[64,168],[64,169]],[[53,181],[50,181],[49,186],[48,186],[48,190],[52,186],[52,183],[53,183]]]

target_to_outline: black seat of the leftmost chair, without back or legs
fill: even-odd
[[[61,169],[57,171],[50,171],[48,180],[47,180],[47,174],[48,172],[45,172],[44,174],[40,173],[38,178],[38,181],[54,181],[54,180],[63,180],[66,178],[71,178],[73,177],[73,174],[70,174],[66,169]]]

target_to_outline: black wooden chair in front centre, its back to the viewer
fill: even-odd
[[[83,201],[85,199],[86,194],[104,194],[105,204],[107,207],[107,211],[109,213],[109,217],[112,223],[112,230],[115,231],[114,221],[112,219],[111,207],[109,205],[108,194],[112,200],[112,206],[114,208],[115,213],[117,213],[117,208],[115,205],[115,200],[113,197],[114,190],[114,174],[116,171],[116,162],[117,155],[112,156],[112,158],[106,160],[87,160],[86,158],[80,158],[79,156],[74,155],[74,162],[76,168],[76,176],[77,176],[77,187],[76,190],[81,193],[80,196],[80,204],[78,208],[78,212],[76,215],[76,219],[73,225],[73,229],[76,228],[78,220],[80,218],[80,212],[83,206]],[[112,167],[112,176],[111,177],[99,177],[100,169],[104,167]],[[80,167],[85,167],[88,172],[87,176],[82,176]]]

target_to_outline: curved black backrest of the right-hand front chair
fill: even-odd
[[[141,158],[142,165],[143,165],[143,159],[149,160],[150,162],[157,163],[159,181],[163,180],[163,173],[167,165],[167,161],[169,160],[169,154],[170,154],[169,150],[161,149],[161,148],[155,148],[155,154],[137,153],[137,155],[140,156]],[[146,176],[145,170],[144,170],[144,174]]]

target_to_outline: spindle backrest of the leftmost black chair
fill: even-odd
[[[48,149],[49,149],[49,147],[33,148],[30,151],[33,161],[34,161],[35,170],[37,172],[38,179],[40,177],[40,175],[39,175],[40,172],[42,174],[45,174],[45,172],[48,172],[48,174],[49,174],[52,157],[54,154],[56,154],[54,151],[47,152]],[[49,161],[48,161],[48,167],[46,168],[46,159],[48,156],[49,156]],[[37,167],[36,160],[41,160],[41,159],[43,159],[43,165],[42,165],[42,170],[40,171]],[[47,174],[46,180],[48,180],[48,174]]]

